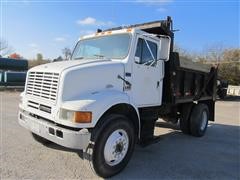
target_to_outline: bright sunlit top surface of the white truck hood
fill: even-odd
[[[87,60],[72,60],[72,61],[61,61],[61,62],[53,62],[42,64],[40,66],[33,67],[30,71],[35,72],[59,72],[61,73],[63,70],[81,66],[81,65],[95,65],[101,62],[112,62],[110,59],[87,59]]]

